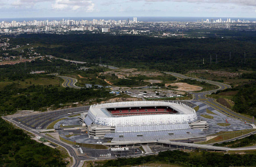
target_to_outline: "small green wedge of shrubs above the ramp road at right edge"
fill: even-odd
[[[250,135],[242,139],[215,144],[216,146],[228,146],[230,148],[248,147],[256,144],[256,135]]]

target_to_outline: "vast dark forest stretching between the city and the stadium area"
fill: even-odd
[[[103,64],[117,67],[174,72],[188,69],[256,69],[256,40],[253,37],[241,38],[175,39],[107,34],[21,34],[11,38],[10,43],[15,46],[41,44],[34,48],[36,52],[70,60],[99,63],[101,57]],[[47,45],[56,47],[45,47]]]

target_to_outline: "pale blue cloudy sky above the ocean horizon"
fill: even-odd
[[[256,0],[0,0],[0,18],[86,16],[256,18]]]

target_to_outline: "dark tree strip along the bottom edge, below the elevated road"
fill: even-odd
[[[144,163],[180,164],[194,167],[228,167],[228,166],[256,166],[256,154],[223,154],[203,151],[199,154],[190,154],[183,151],[164,151],[158,155],[148,155],[139,158],[118,158],[107,162],[98,162],[97,167],[107,166],[134,166]]]

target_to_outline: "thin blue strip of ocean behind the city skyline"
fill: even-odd
[[[128,18],[130,20],[133,20],[133,17],[136,16],[123,16],[123,17],[38,17],[38,18],[0,18],[0,21],[7,21],[7,22],[11,22],[13,20],[17,21],[17,22],[23,22],[23,21],[33,21],[33,20],[37,20],[37,21],[43,21],[43,20],[49,20],[49,21],[60,21],[62,19],[64,20],[93,20],[93,19],[104,19],[104,20],[127,20]],[[249,20],[249,21],[256,21],[256,18],[238,18],[238,17],[137,17],[137,21],[143,21],[143,22],[197,22],[197,20],[199,20],[201,22],[201,20],[206,20],[209,19],[209,21],[211,21],[211,19],[213,20],[218,20],[218,19],[222,19],[222,20],[227,20],[227,18],[230,18],[231,20]]]

